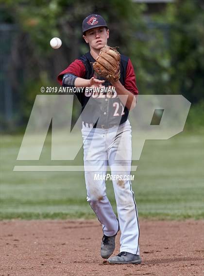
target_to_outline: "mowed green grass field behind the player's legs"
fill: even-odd
[[[51,137],[40,161],[16,161],[23,135],[1,136],[1,219],[94,218],[86,202],[84,172],[14,172],[15,165],[71,164],[50,161]],[[73,141],[74,142],[74,141]],[[204,153],[201,132],[182,132],[169,140],[148,140],[132,183],[140,217],[203,217]],[[76,141],[75,141],[76,143]],[[82,151],[75,164],[82,165]],[[107,194],[116,211],[111,182]]]

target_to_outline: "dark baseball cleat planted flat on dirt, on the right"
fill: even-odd
[[[107,261],[110,263],[141,263],[141,258],[139,255],[135,255],[129,252],[120,252],[117,256],[109,258]]]

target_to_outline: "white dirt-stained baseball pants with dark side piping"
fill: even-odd
[[[102,224],[103,234],[113,236],[118,220],[106,195],[104,177],[109,164],[111,175],[130,175],[132,135],[129,120],[110,129],[89,128],[83,124],[84,167],[87,201]],[[100,179],[95,179],[100,174]],[[115,177],[117,179],[117,177]],[[139,255],[139,223],[130,180],[112,180],[115,192],[120,236],[120,252]]]

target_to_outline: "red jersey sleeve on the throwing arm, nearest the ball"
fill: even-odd
[[[72,62],[64,71],[57,76],[57,81],[62,85],[63,76],[67,73],[73,74],[76,77],[84,78],[85,76],[85,65],[81,60],[76,59]]]

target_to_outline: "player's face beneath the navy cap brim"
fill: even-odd
[[[109,30],[105,27],[93,28],[86,31],[83,37],[85,42],[89,44],[90,49],[100,50],[107,44]]]

